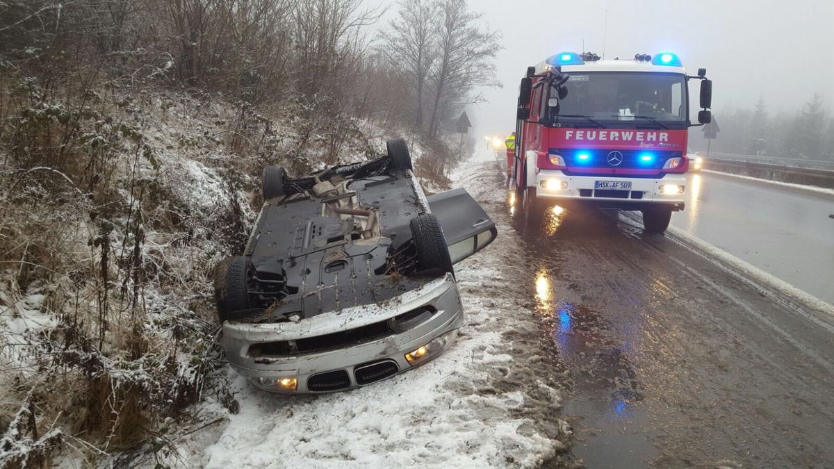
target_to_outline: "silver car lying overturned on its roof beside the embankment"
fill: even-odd
[[[463,189],[425,197],[403,139],[388,155],[289,179],[264,169],[264,208],[214,287],[229,363],[264,391],[363,386],[455,340],[453,265],[495,240]]]

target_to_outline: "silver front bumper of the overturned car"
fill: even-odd
[[[428,308],[435,312],[403,328],[398,317]],[[420,366],[440,355],[455,339],[463,318],[452,275],[431,280],[384,304],[322,313],[297,322],[249,324],[226,321],[223,343],[229,363],[255,386],[273,392],[343,391]],[[394,324],[396,323],[396,324]],[[369,340],[307,352],[263,354],[263,344],[315,344],[316,338],[389,325],[394,330]],[[435,340],[443,336],[444,340]],[[409,363],[405,354],[432,343],[424,361]],[[438,346],[440,344],[440,346]],[[251,352],[250,350],[258,350]],[[311,380],[312,378],[312,380]],[[283,380],[283,381],[282,381]],[[282,382],[284,384],[282,384]],[[294,384],[295,390],[287,383]]]

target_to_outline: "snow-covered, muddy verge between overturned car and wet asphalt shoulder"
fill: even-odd
[[[274,396],[234,371],[239,412],[176,441],[173,466],[535,467],[564,453],[560,391],[546,377],[540,324],[521,300],[524,266],[493,155],[453,175],[498,225],[495,242],[455,266],[465,322],[435,361],[354,391]],[[199,427],[202,424],[195,425]],[[187,429],[185,431],[188,431]]]

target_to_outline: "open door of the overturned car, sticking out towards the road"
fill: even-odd
[[[426,199],[440,221],[453,264],[484,249],[498,236],[495,222],[465,189],[447,190]]]

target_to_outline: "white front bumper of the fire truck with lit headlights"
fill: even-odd
[[[631,182],[629,190],[595,189],[597,181]],[[680,190],[680,188],[683,190]],[[676,190],[670,190],[676,189]],[[535,195],[553,201],[577,201],[605,208],[644,209],[649,204],[670,204],[683,209],[686,194],[684,174],[665,174],[661,179],[595,176],[572,176],[559,169],[541,169],[535,174]]]

